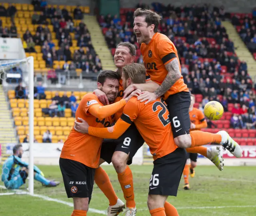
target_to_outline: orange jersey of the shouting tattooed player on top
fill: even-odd
[[[165,65],[171,62],[175,57],[178,59],[180,67],[177,49],[172,41],[170,41],[164,34],[158,32],[155,33],[148,44],[141,44],[140,51],[143,55],[144,65],[150,79],[158,84],[162,84],[168,74]],[[181,76],[181,78],[164,94],[164,100],[166,100],[169,95],[182,91],[188,92],[188,87]]]

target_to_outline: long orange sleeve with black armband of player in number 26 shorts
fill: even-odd
[[[117,139],[129,128],[137,116],[138,102],[136,103],[136,99],[131,99],[126,106],[124,106],[124,113],[114,126],[109,128],[89,127],[88,134],[106,139]]]

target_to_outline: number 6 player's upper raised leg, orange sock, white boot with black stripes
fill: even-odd
[[[225,131],[220,131],[217,134],[202,131],[192,131],[190,134],[180,135],[174,138],[178,147],[190,148],[196,146],[207,145],[208,143],[217,143],[228,149],[235,157],[242,156],[242,150],[238,143],[234,141]]]

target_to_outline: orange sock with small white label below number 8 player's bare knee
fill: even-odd
[[[124,193],[124,198],[126,200],[126,207],[134,208],[136,206],[134,201],[134,190],[133,190],[133,178],[132,171],[128,166],[122,173],[118,174],[118,181]]]

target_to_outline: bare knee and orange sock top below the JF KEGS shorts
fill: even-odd
[[[73,197],[74,211],[71,216],[86,216],[89,206],[89,198]]]

